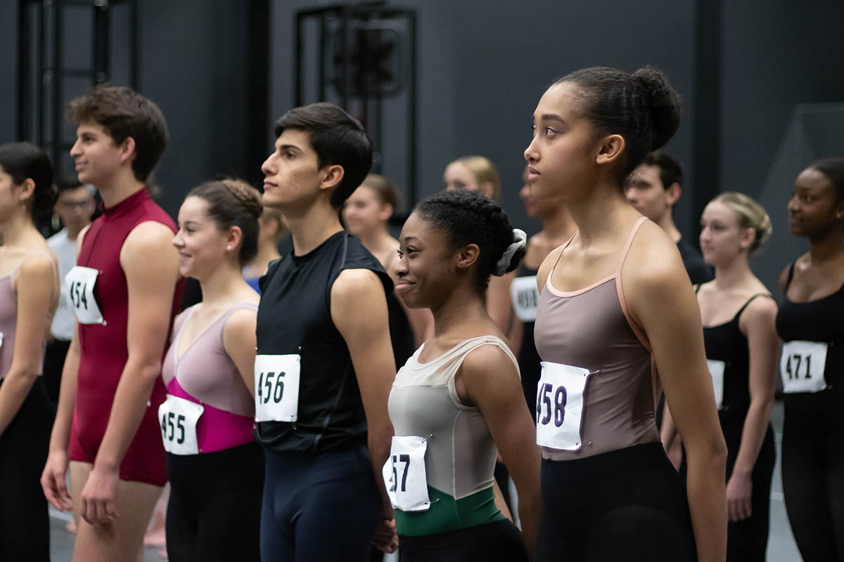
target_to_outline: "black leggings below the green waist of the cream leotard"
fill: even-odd
[[[509,520],[449,533],[399,537],[400,562],[527,562],[522,533]]]

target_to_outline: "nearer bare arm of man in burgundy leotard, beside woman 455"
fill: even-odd
[[[128,290],[128,359],[117,383],[106,434],[82,492],[82,517],[107,522],[114,511],[117,474],[138,431],[161,371],[176,281],[178,254],[173,233],[160,222],[142,222],[126,238],[120,264]],[[150,260],[150,256],[155,256]]]

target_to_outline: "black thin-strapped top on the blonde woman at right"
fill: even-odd
[[[756,297],[771,297],[759,293],[750,297],[732,320],[703,329],[706,359],[724,361],[724,393],[718,417],[744,420],[750,407],[750,352],[747,338],[738,329],[738,318]],[[772,297],[771,297],[772,298]]]

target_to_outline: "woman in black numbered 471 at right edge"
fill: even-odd
[[[782,491],[806,562],[844,560],[844,158],[794,180],[793,236],[809,252],[782,270],[776,315],[785,396]]]

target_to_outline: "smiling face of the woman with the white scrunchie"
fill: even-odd
[[[396,294],[408,308],[430,308],[452,292],[456,255],[448,234],[411,213],[399,236]]]

